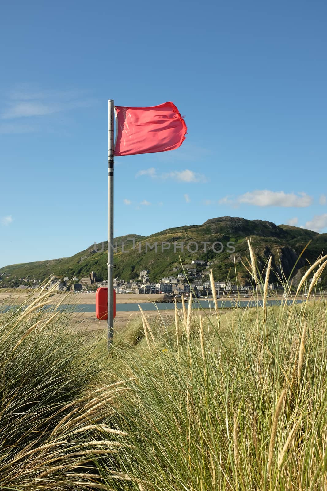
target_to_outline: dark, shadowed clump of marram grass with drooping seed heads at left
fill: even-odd
[[[109,404],[127,388],[97,388],[106,355],[69,332],[58,304],[42,310],[50,295],[0,315],[0,490],[108,490],[97,463],[117,468],[126,433]]]

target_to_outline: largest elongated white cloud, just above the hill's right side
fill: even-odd
[[[305,208],[310,206],[313,202],[311,196],[305,192],[286,193],[284,191],[269,191],[269,190],[255,190],[252,192],[246,192],[237,196],[236,199],[228,199],[226,196],[219,200],[220,204],[247,204],[253,206],[267,207],[267,206],[284,206]]]

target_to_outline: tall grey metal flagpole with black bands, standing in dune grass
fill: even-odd
[[[107,347],[114,335],[114,101],[108,101],[108,320]]]

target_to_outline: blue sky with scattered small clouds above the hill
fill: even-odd
[[[116,158],[116,236],[225,215],[327,232],[326,2],[5,3],[0,267],[105,240],[109,98],[188,126]]]

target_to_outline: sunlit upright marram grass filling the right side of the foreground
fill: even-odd
[[[248,309],[222,313],[220,335],[216,315],[193,312],[178,349],[175,323],[152,325],[151,353],[116,348],[107,375],[131,379],[114,415],[131,481],[115,489],[327,489],[326,302],[267,311],[265,343],[264,312]]]

